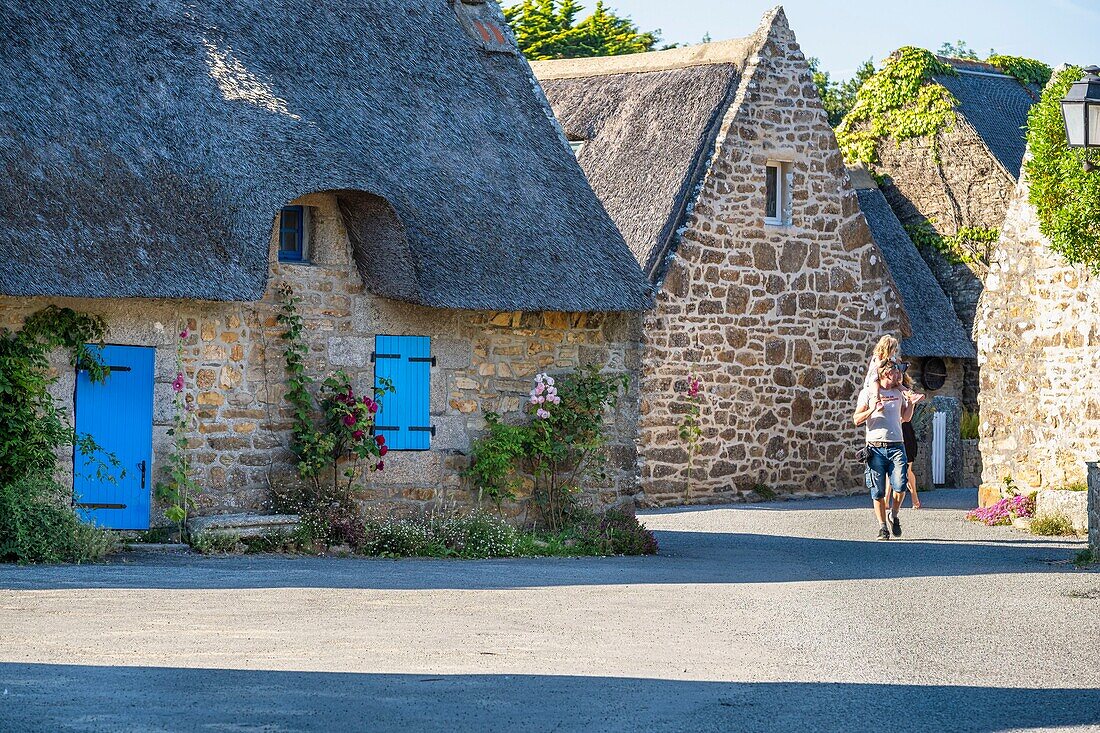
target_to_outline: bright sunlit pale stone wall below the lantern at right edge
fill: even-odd
[[[1048,249],[1021,182],[977,319],[982,501],[1082,482],[1100,457],[1100,281]]]

